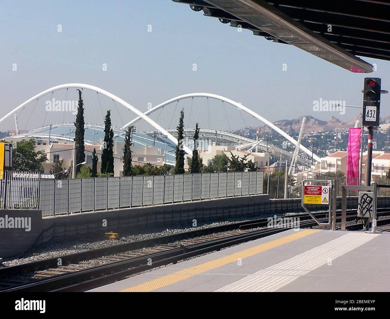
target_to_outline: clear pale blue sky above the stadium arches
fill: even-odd
[[[57,25],[62,32],[57,32]],[[152,25],[152,32],[147,32]],[[176,95],[209,92],[271,121],[312,115],[313,101],[362,105],[363,78],[293,46],[266,41],[170,0],[0,0],[0,115],[51,86],[99,86],[145,111]],[[390,90],[390,62],[372,76]],[[12,64],[17,63],[17,71]],[[107,63],[107,71],[102,64]],[[197,71],[192,70],[197,63]],[[282,71],[287,63],[287,71]],[[381,116],[390,115],[384,96]]]

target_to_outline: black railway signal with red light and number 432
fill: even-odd
[[[381,79],[365,78],[363,86],[363,126],[379,126],[381,103]]]

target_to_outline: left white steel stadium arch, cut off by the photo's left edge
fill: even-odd
[[[44,90],[43,92],[38,93],[37,95],[34,95],[31,99],[28,99],[26,102],[23,102],[18,107],[14,108],[7,115],[3,116],[0,119],[0,123],[2,123],[6,118],[8,118],[9,116],[13,115],[16,111],[18,111],[19,109],[23,108],[23,106],[26,106],[28,103],[34,101],[35,99],[39,99],[40,97],[46,95],[47,93],[50,93],[50,92],[53,92],[53,91],[57,91],[57,90],[62,90],[62,89],[65,89],[65,88],[85,88],[85,89],[88,89],[88,90],[93,90],[93,91],[95,91],[97,93],[101,93],[101,94],[105,95],[106,97],[109,97],[110,99],[115,100],[116,102],[118,102],[122,106],[128,108],[130,111],[134,112],[136,115],[138,115],[138,118],[142,118],[147,123],[152,125],[155,129],[159,130],[162,134],[166,135],[168,137],[168,139],[170,139],[170,141],[175,143],[175,145],[178,144],[177,139],[174,136],[172,136],[172,134],[167,132],[158,123],[154,122],[151,118],[149,118],[147,115],[144,115],[144,113],[142,113],[140,110],[138,110],[137,108],[135,108],[134,106],[132,106],[131,104],[126,102],[125,100],[122,100],[121,98],[117,97],[116,95],[113,95],[112,93],[107,92],[106,90],[98,88],[97,86],[93,86],[93,85],[89,85],[89,84],[83,84],[83,83],[61,84],[61,85],[53,86],[52,88],[49,88],[47,90]],[[184,152],[186,152],[188,154],[192,154],[192,150],[190,150],[190,148],[188,148],[184,144],[182,146],[183,146]]]

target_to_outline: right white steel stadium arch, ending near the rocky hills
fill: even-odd
[[[294,145],[297,144],[297,141],[295,139],[293,139],[293,137],[289,136],[289,134],[287,134],[283,130],[279,129],[275,124],[269,122],[267,119],[265,119],[261,115],[257,114],[256,112],[252,111],[251,109],[246,108],[245,106],[239,104],[238,102],[235,102],[233,100],[228,99],[227,97],[223,97],[221,95],[216,95],[216,94],[212,94],[212,93],[188,93],[188,94],[179,95],[177,97],[174,97],[172,99],[169,99],[169,100],[167,100],[165,102],[162,102],[162,103],[154,106],[153,108],[151,108],[151,109],[147,110],[145,113],[143,113],[143,115],[148,116],[150,113],[152,113],[152,112],[154,112],[154,111],[156,111],[156,110],[158,110],[160,108],[163,108],[164,106],[166,106],[166,105],[168,105],[168,104],[170,104],[170,103],[172,103],[174,101],[188,99],[190,97],[210,97],[210,98],[213,98],[213,99],[221,100],[223,102],[227,102],[229,104],[232,104],[233,106],[236,106],[236,108],[243,110],[244,112],[252,115],[253,117],[257,118],[259,121],[261,121],[264,124],[268,125],[269,127],[271,127],[271,129],[273,129],[276,132],[278,132],[280,135],[282,135],[285,139],[287,139],[288,141],[290,141]],[[127,123],[126,125],[123,125],[122,129],[126,129],[130,125],[133,125],[135,122],[137,122],[141,118],[144,119],[144,117],[138,115],[136,118],[131,120],[129,123]],[[306,154],[312,156],[312,152],[310,150],[308,150],[305,146],[300,145],[300,149],[303,152],[305,152]],[[313,154],[313,159],[316,160],[317,162],[321,162],[321,159],[317,155],[315,155],[315,154]]]

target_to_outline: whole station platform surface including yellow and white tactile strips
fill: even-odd
[[[90,291],[390,291],[390,233],[289,229]]]

